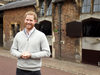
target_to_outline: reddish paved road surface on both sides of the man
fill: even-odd
[[[0,75],[16,75],[16,59],[0,56]],[[42,75],[75,75],[61,70],[42,67]]]

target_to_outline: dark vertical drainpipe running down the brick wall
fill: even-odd
[[[59,60],[61,60],[61,4],[58,3],[58,14],[59,14]]]

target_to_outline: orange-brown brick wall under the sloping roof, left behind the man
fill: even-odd
[[[10,49],[12,41],[10,38],[11,22],[20,22],[21,30],[24,28],[24,15],[27,11],[35,11],[33,6],[21,7],[4,11],[3,17],[3,34],[4,48]]]

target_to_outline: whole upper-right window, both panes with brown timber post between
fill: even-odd
[[[100,12],[100,0],[82,0],[82,13]]]

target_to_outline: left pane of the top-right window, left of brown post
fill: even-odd
[[[82,13],[90,13],[90,12],[91,12],[91,0],[83,0]]]

